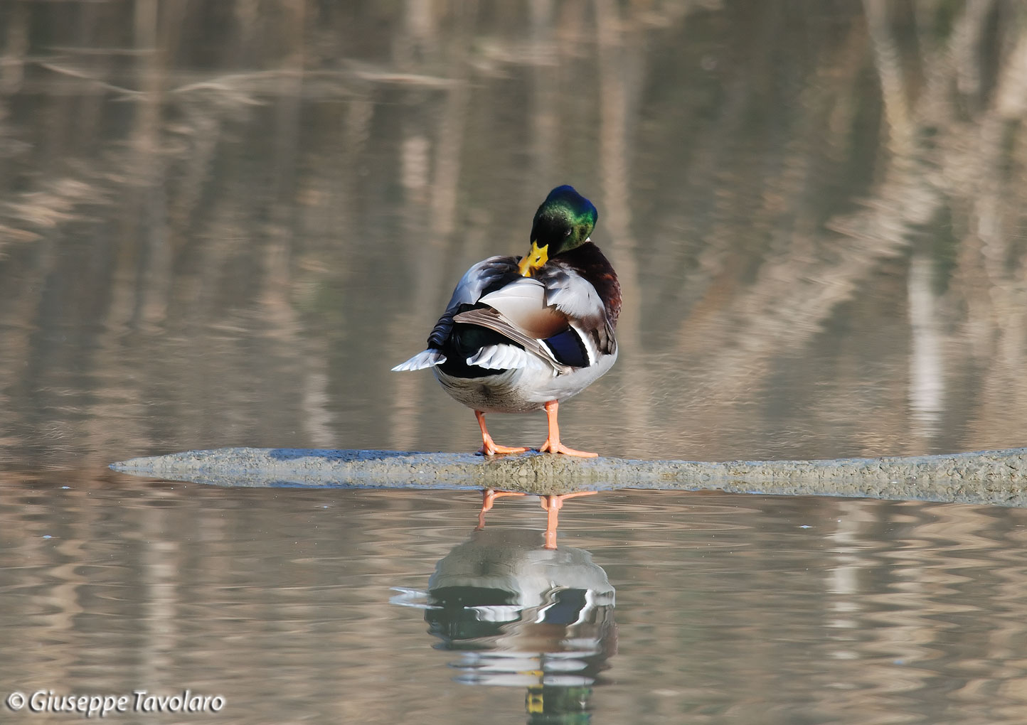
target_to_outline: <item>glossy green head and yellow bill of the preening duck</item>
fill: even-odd
[[[532,272],[550,258],[589,241],[599,213],[572,186],[558,186],[535,212],[531,225],[531,252],[521,260],[521,274]]]

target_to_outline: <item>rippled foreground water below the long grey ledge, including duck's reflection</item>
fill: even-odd
[[[66,486],[0,487],[8,689],[188,687],[238,723],[1027,714],[1022,509],[607,493],[546,551],[534,500],[476,532],[466,493]]]

